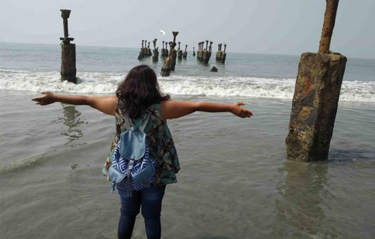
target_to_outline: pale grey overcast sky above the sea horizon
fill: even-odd
[[[197,48],[211,39],[227,51],[300,55],[318,51],[324,0],[0,0],[0,42],[60,44],[60,9],[70,9],[77,45],[139,47],[142,39]],[[331,51],[375,58],[375,0],[341,0]],[[163,29],[167,35],[163,36]],[[159,44],[161,46],[161,44]]]

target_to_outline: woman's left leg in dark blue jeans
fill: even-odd
[[[127,191],[118,190],[121,198],[121,215],[118,222],[118,238],[130,239],[133,233],[136,215],[140,209],[140,191],[132,191],[131,197],[127,195]]]

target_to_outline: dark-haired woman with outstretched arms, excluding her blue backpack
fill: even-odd
[[[51,92],[42,92],[44,96],[34,98],[37,105],[49,105],[61,102],[71,105],[89,105],[105,114],[116,117],[116,134],[111,144],[109,157],[102,170],[107,175],[111,166],[113,150],[125,131],[125,112],[132,125],[140,124],[145,115],[151,112],[150,120],[145,127],[149,152],[157,159],[155,179],[152,186],[142,191],[133,191],[131,196],[118,188],[121,199],[121,216],[118,223],[118,238],[131,238],[136,215],[142,206],[145,218],[147,238],[161,238],[161,203],[165,186],[176,183],[179,172],[179,158],[167,119],[179,118],[196,111],[230,112],[241,118],[250,118],[253,113],[241,108],[245,103],[224,105],[207,102],[172,100],[169,95],[161,94],[155,72],[147,65],[134,67],[124,81],[118,85],[116,96],[62,96]],[[158,154],[158,155],[156,155]]]

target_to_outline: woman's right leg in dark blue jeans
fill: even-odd
[[[140,191],[142,215],[145,218],[147,239],[161,238],[161,202],[165,186],[151,186]]]

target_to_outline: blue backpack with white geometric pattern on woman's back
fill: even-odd
[[[150,158],[149,145],[146,134],[143,132],[149,121],[149,112],[140,127],[130,127],[129,117],[125,113],[126,131],[120,134],[120,141],[116,145],[108,170],[108,179],[111,181],[111,193],[115,186],[120,190],[140,191],[150,186],[154,180],[156,161]]]

